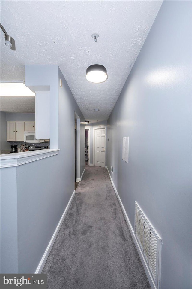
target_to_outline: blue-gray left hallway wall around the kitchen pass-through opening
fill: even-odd
[[[28,66],[27,73],[29,73],[32,78],[30,84],[36,85],[36,81],[39,78],[37,77],[37,71],[35,72],[34,65],[32,66],[32,71],[30,70],[30,66]],[[50,85],[50,88],[52,87],[50,97],[54,96],[55,102],[59,105],[58,114],[56,113],[56,109],[53,108],[55,117],[57,118],[57,121],[55,121],[55,135],[58,135],[58,140],[53,140],[52,143],[56,144],[58,141],[60,151],[56,156],[17,166],[15,168],[16,179],[14,180],[12,180],[12,168],[1,169],[2,172],[4,172],[4,181],[1,182],[1,194],[6,194],[5,196],[7,196],[6,199],[3,200],[2,206],[4,203],[6,204],[9,196],[6,188],[7,179],[9,178],[11,184],[13,181],[16,181],[16,188],[14,188],[11,193],[17,196],[17,202],[14,202],[14,208],[17,210],[17,216],[15,218],[17,218],[18,224],[18,238],[15,242],[18,242],[18,244],[14,242],[14,245],[16,247],[18,246],[19,273],[34,273],[36,271],[67,203],[72,196],[75,176],[74,111],[76,110],[78,115],[82,117],[82,120],[85,120],[58,66],[37,66],[41,77],[44,77],[42,83],[39,81],[38,85]],[[33,72],[35,72],[35,75]],[[52,74],[52,79],[50,78],[50,73]],[[29,80],[28,77],[27,79]],[[62,78],[62,89],[59,87],[59,78]],[[51,81],[51,83],[49,81]],[[53,87],[56,87],[55,91]],[[59,125],[57,126],[58,123]],[[82,137],[85,139],[85,126],[83,127]],[[84,145],[80,150],[83,152],[84,157]],[[85,157],[83,161],[84,163],[81,163],[82,171],[85,168]],[[4,214],[5,213],[6,210]],[[5,224],[12,227],[8,221],[5,222]],[[4,227],[1,233],[1,236],[5,236],[4,238],[6,238]],[[7,256],[7,259],[3,259],[4,263],[1,270],[8,273],[8,266],[9,273],[16,273],[16,268],[12,267],[12,263],[14,264],[16,262],[16,258],[13,256],[13,260],[10,262],[11,255],[8,248],[9,246],[5,245],[1,248],[2,250],[5,249],[4,256]]]

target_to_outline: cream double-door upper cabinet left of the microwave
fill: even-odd
[[[24,121],[7,121],[7,141],[24,141]]]

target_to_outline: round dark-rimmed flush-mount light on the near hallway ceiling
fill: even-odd
[[[86,78],[94,83],[102,83],[107,80],[107,69],[100,64],[93,64],[87,68]]]

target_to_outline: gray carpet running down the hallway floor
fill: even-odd
[[[148,289],[107,170],[86,166],[44,266],[48,289]]]

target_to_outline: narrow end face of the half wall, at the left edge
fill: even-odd
[[[1,273],[17,273],[16,167],[0,169],[0,188],[0,269]]]

